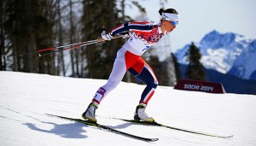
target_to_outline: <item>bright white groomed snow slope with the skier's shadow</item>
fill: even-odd
[[[256,96],[176,91],[159,86],[146,111],[158,122],[221,135],[206,137],[155,126],[139,126],[109,117],[131,119],[144,85],[122,82],[97,110],[98,122],[142,137],[146,143],[80,123],[49,117],[80,118],[101,79],[72,79],[45,74],[0,72],[0,141],[16,145],[256,145]]]

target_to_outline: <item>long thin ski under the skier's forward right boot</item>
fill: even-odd
[[[176,130],[176,131],[185,131],[185,132],[194,133],[194,134],[198,134],[198,135],[209,136],[209,137],[220,137],[220,138],[233,137],[233,135],[232,136],[220,136],[220,135],[210,134],[210,133],[206,133],[206,132],[202,132],[202,131],[192,131],[192,130],[177,128],[177,127],[174,127],[174,126],[165,126],[165,125],[162,125],[162,124],[157,123],[157,122],[146,122],[146,121],[141,121],[141,120],[125,120],[125,119],[119,119],[119,118],[111,118],[111,119],[124,120],[126,122],[131,122],[131,123],[136,123],[136,124],[146,125],[146,126],[162,126],[162,127],[166,127],[166,128],[172,129],[172,130]]]

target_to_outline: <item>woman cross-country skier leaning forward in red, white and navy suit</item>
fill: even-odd
[[[129,32],[130,38],[117,52],[113,63],[113,70],[107,80],[107,84],[101,86],[100,89],[96,91],[92,102],[82,114],[84,120],[97,122],[95,110],[107,94],[119,85],[125,72],[129,71],[137,79],[142,80],[147,85],[135,110],[134,120],[155,121],[145,113],[145,108],[155,92],[158,81],[155,77],[155,73],[143,60],[141,55],[143,55],[146,50],[149,50],[151,45],[156,44],[168,32],[172,32],[179,22],[179,13],[175,9],[160,9],[158,12],[161,15],[160,22],[127,22],[113,28],[109,33],[101,33],[101,37],[104,40],[111,40],[114,36],[122,35],[124,32]]]

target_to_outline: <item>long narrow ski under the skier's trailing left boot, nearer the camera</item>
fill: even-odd
[[[98,127],[100,129],[111,131],[111,132],[114,132],[116,134],[123,135],[125,137],[131,137],[131,138],[135,138],[135,139],[138,139],[138,140],[143,140],[143,141],[146,141],[146,142],[155,142],[155,141],[158,140],[158,138],[138,137],[136,135],[133,135],[133,134],[130,134],[130,133],[126,133],[124,131],[118,131],[118,130],[115,130],[115,129],[111,128],[111,127],[103,126],[101,124],[94,123],[94,122],[91,122],[91,121],[88,121],[88,120],[74,119],[74,118],[69,118],[69,117],[64,117],[64,116],[59,116],[59,115],[54,115],[54,114],[47,114],[47,115],[52,116],[52,117],[57,117],[57,118],[60,118],[60,119],[64,119],[64,120],[76,121],[76,122],[85,124],[87,126]]]

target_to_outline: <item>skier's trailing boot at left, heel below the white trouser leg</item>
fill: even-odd
[[[96,105],[94,102],[91,102],[88,105],[88,108],[86,109],[86,111],[82,114],[82,118],[84,120],[89,120],[91,122],[96,123],[97,120],[95,118],[95,110],[98,108],[98,105]]]

